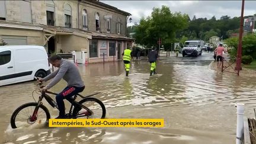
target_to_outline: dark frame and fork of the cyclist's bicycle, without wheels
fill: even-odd
[[[42,105],[43,103],[41,102],[43,100],[43,98],[46,99],[47,103],[49,103],[52,107],[56,107],[58,110],[59,110],[59,107],[57,107],[57,103],[49,96],[47,95],[46,93],[48,94],[53,94],[53,95],[57,95],[55,92],[50,92],[50,91],[41,91],[41,96],[39,97],[39,101],[37,101],[37,106],[33,112],[33,115],[31,116],[31,121],[34,121],[36,120],[37,118],[37,111],[39,110],[39,106]],[[76,114],[75,117],[72,117],[72,108],[74,107],[74,105],[79,105],[80,107],[82,108],[85,108],[85,110],[89,111],[89,113],[93,114],[93,111],[89,110],[89,108],[85,107],[84,105],[82,104],[79,104],[76,100],[76,97],[77,95],[79,95],[79,97],[85,99],[85,98],[88,98],[88,97],[92,97],[93,95],[97,95],[97,94],[100,94],[100,92],[96,92],[95,94],[91,94],[91,95],[87,95],[86,97],[80,95],[80,94],[76,94],[73,98],[73,101],[71,103],[71,108],[69,109],[69,113],[68,113],[68,117],[69,118],[77,118],[77,117],[82,117],[81,115],[82,114]]]

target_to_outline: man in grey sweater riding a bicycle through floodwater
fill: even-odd
[[[53,55],[49,57],[49,62],[59,68],[56,71],[52,72],[50,75],[45,78],[39,78],[39,82],[52,81],[43,87],[42,90],[46,91],[47,89],[52,88],[56,85],[62,78],[68,83],[67,87],[63,89],[62,92],[56,95],[57,106],[59,107],[59,116],[56,119],[65,119],[65,104],[64,99],[72,103],[72,96],[78,94],[79,92],[84,91],[85,85],[82,81],[81,75],[76,68],[76,65],[69,60],[62,59],[59,55]]]

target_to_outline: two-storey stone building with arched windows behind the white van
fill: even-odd
[[[128,12],[99,1],[0,1],[5,43],[44,46],[50,53],[87,52],[88,62],[120,59],[132,44]]]

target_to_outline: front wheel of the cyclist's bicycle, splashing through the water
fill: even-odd
[[[39,110],[37,111],[36,120],[31,121],[31,117],[34,110],[38,104],[37,103],[27,103],[18,107],[11,116],[11,127],[12,129],[19,127],[28,127],[32,124],[45,124],[50,119],[49,110],[44,105],[39,105]]]

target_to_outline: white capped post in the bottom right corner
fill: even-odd
[[[244,130],[244,104],[236,104],[236,144],[242,144],[242,135]]]

